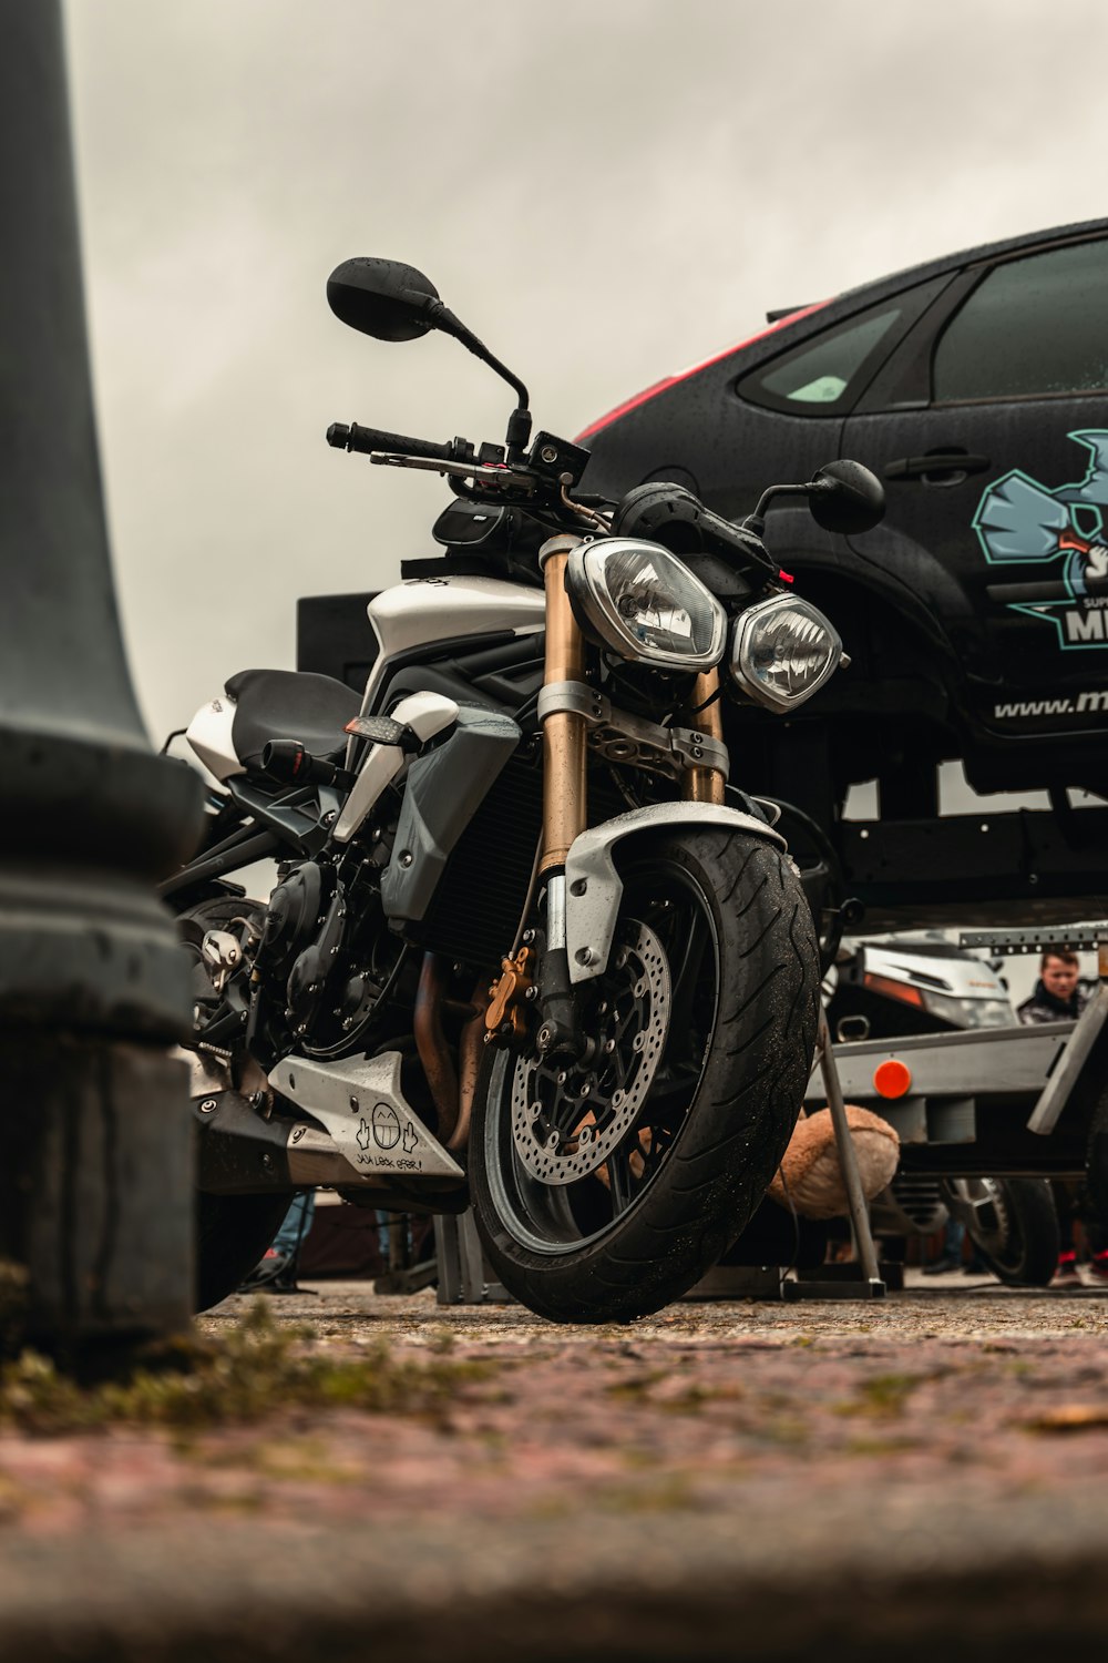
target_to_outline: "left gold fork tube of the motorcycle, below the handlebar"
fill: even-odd
[[[547,669],[543,682],[585,680],[585,640],[565,592],[570,549],[580,537],[552,537],[540,552],[547,585]],[[550,552],[547,552],[550,550]],[[543,722],[543,855],[540,871],[565,866],[570,843],[588,825],[585,717],[558,710]]]

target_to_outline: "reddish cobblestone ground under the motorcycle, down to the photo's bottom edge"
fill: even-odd
[[[420,1410],[0,1435],[3,1663],[1103,1650],[1105,1289],[917,1277],[884,1304],[618,1329],[365,1284],[271,1309],[311,1325],[309,1357],[389,1355],[439,1389]],[[224,1357],[248,1310],[203,1320]]]

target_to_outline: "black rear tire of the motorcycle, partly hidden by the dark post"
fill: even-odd
[[[201,931],[224,930],[249,905],[236,895],[213,895],[184,908],[178,926],[193,923]],[[196,1191],[196,1310],[211,1310],[243,1284],[277,1234],[291,1201],[291,1194],[216,1196]]]

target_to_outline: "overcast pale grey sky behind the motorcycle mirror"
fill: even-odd
[[[502,437],[445,338],[324,299],[424,268],[575,432],[658,376],[945,249],[1106,208],[1103,0],[68,0],[125,630],[151,732],[292,662],[299,594],[427,547],[432,477],[334,419]]]

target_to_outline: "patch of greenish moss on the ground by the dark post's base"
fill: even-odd
[[[359,1357],[312,1350],[311,1332],[279,1327],[259,1299],[234,1327],[150,1350],[126,1375],[83,1385],[50,1359],[23,1352],[0,1367],[0,1429],[42,1435],[111,1425],[183,1430],[252,1422],[289,1407],[369,1414],[444,1414],[483,1360]]]

